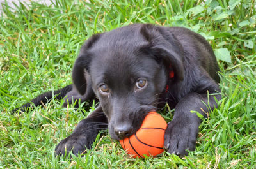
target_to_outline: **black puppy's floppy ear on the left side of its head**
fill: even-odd
[[[92,59],[88,50],[99,40],[99,37],[100,34],[95,34],[84,43],[73,67],[72,80],[81,95],[86,92],[86,73],[89,73],[89,66]]]

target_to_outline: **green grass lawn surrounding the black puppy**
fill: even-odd
[[[0,168],[256,168],[255,1],[65,1],[3,6],[0,17]],[[221,68],[223,99],[200,125],[195,152],[134,159],[109,135],[72,159],[54,148],[93,110],[52,100],[28,114],[10,110],[71,83],[83,41],[141,22],[188,27],[211,43]]]

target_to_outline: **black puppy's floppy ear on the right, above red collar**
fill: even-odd
[[[141,34],[149,42],[146,47],[157,60],[163,60],[166,66],[172,66],[178,80],[184,79],[184,51],[179,40],[168,31],[167,27],[145,24]]]

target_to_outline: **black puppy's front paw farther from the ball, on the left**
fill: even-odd
[[[92,147],[92,143],[95,140],[95,136],[88,136],[86,133],[72,133],[67,138],[61,140],[55,148],[56,155],[63,156],[69,154],[71,151],[73,154],[83,153],[86,149]]]

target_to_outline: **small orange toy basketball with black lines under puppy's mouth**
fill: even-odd
[[[120,143],[128,154],[134,158],[156,156],[164,151],[164,133],[167,128],[166,121],[156,112],[149,112],[141,124],[140,129]],[[146,155],[146,156],[145,156]]]

